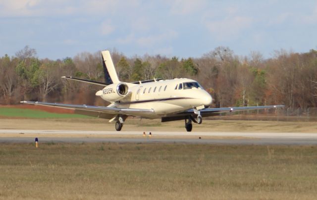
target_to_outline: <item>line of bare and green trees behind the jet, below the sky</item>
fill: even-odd
[[[192,78],[211,94],[214,107],[317,106],[317,50],[278,50],[268,59],[260,52],[238,56],[226,47],[197,58],[148,54],[127,57],[117,50],[110,53],[121,81]],[[61,76],[104,82],[101,53],[39,59],[36,50],[26,46],[15,56],[5,54],[0,58],[0,104],[39,100],[105,105],[95,96],[98,86],[63,80]]]

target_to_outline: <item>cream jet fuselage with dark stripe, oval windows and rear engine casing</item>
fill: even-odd
[[[144,113],[142,117],[157,118],[189,108],[208,107],[212,98],[195,80],[187,78],[160,80],[150,83],[123,83],[127,93],[114,100],[118,93],[117,85],[111,84],[96,93],[102,99],[111,102],[111,107],[153,109],[153,113]]]

